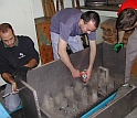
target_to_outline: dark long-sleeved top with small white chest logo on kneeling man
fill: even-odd
[[[29,36],[17,36],[18,45],[6,47],[0,41],[0,74],[12,74],[20,66],[25,65],[31,58],[39,63],[39,53],[34,49],[34,43]]]

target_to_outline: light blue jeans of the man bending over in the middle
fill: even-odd
[[[51,41],[52,41],[54,60],[60,58],[60,56],[57,54],[59,39],[60,39],[59,34],[56,34],[54,32],[51,32]],[[70,45],[70,47],[71,47],[73,53],[84,50],[83,42],[82,42],[80,35],[70,36],[67,43],[68,43],[68,45]]]

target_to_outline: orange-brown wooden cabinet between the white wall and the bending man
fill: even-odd
[[[53,61],[50,25],[51,18],[42,17],[35,19],[35,29],[42,64]]]

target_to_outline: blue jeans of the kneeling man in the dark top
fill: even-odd
[[[10,84],[7,84],[7,87],[6,87],[6,93],[4,94],[9,94],[11,93],[11,85]],[[6,97],[6,107],[8,108],[9,111],[13,111],[15,110],[19,105],[20,105],[20,97],[18,94],[15,95],[9,95],[8,97]]]

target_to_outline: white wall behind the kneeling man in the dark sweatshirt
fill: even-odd
[[[0,23],[9,22],[15,34],[30,36],[39,50],[31,0],[0,0]]]

